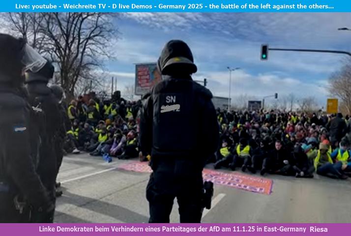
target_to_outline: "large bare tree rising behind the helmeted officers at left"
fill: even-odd
[[[10,26],[59,69],[56,79],[66,94],[76,85],[93,81],[104,59],[114,57],[112,39],[117,38],[112,13],[8,13]]]

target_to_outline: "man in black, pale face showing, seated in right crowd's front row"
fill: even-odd
[[[266,172],[283,176],[293,176],[293,160],[291,153],[288,153],[283,147],[282,141],[275,141],[275,148],[269,153],[268,163],[262,166],[261,175]]]

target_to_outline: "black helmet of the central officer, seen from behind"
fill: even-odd
[[[157,67],[163,75],[172,75],[179,71],[190,75],[198,70],[189,46],[181,40],[171,40],[165,45]]]

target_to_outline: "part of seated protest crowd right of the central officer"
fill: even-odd
[[[351,172],[349,116],[219,109],[217,116],[220,147],[209,160],[215,169],[341,179]]]

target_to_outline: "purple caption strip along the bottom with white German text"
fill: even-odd
[[[351,224],[0,224],[2,236],[346,236]]]

